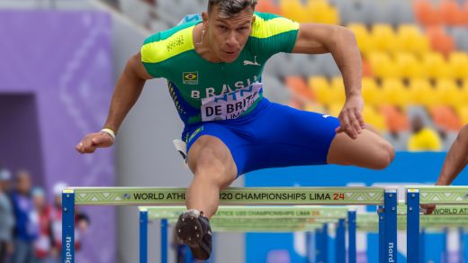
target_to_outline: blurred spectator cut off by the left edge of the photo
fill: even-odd
[[[14,214],[5,191],[10,178],[10,172],[5,168],[0,168],[0,263],[6,262],[6,256],[13,252]]]

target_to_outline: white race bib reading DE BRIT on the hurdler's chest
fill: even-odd
[[[202,98],[202,121],[237,119],[257,101],[262,86],[262,83],[254,83],[231,93]]]

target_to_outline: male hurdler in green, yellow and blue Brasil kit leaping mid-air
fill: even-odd
[[[256,4],[209,0],[201,21],[149,37],[115,87],[104,129],[76,145],[81,153],[110,147],[145,82],[165,77],[184,122],[182,139],[194,175],[186,194],[188,211],[175,231],[195,258],[210,258],[208,220],[218,208],[220,190],[239,175],[320,164],[382,169],[394,156],[392,146],[367,129],[362,117],[362,62],[354,34],[340,26],[254,13]],[[346,86],[347,100],[338,118],[263,96],[263,68],[280,52],[331,52]]]

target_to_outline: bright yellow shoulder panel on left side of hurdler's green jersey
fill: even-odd
[[[175,32],[166,40],[150,42],[141,47],[141,61],[158,63],[175,57],[188,50],[193,50],[193,27]]]

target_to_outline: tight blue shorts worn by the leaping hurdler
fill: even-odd
[[[238,176],[263,168],[327,164],[338,119],[300,111],[263,98],[257,108],[235,120],[187,125],[187,152],[202,135],[223,141],[236,162]]]

